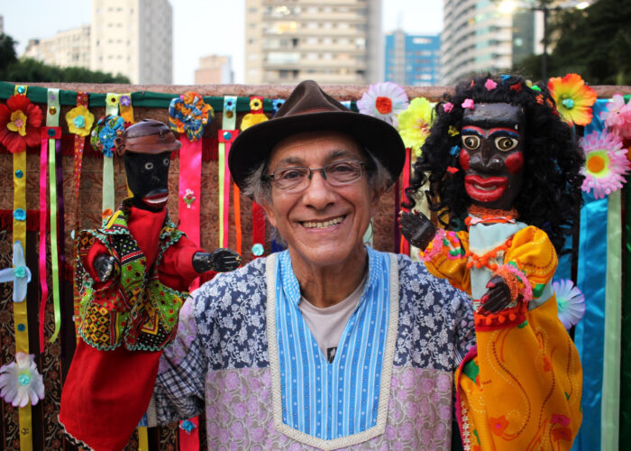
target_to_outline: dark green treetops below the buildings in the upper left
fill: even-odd
[[[18,60],[15,54],[16,42],[11,36],[0,34],[0,79],[13,82],[52,82],[52,83],[129,83],[123,75],[113,76],[105,72],[84,68],[59,68],[38,60],[25,58]]]

